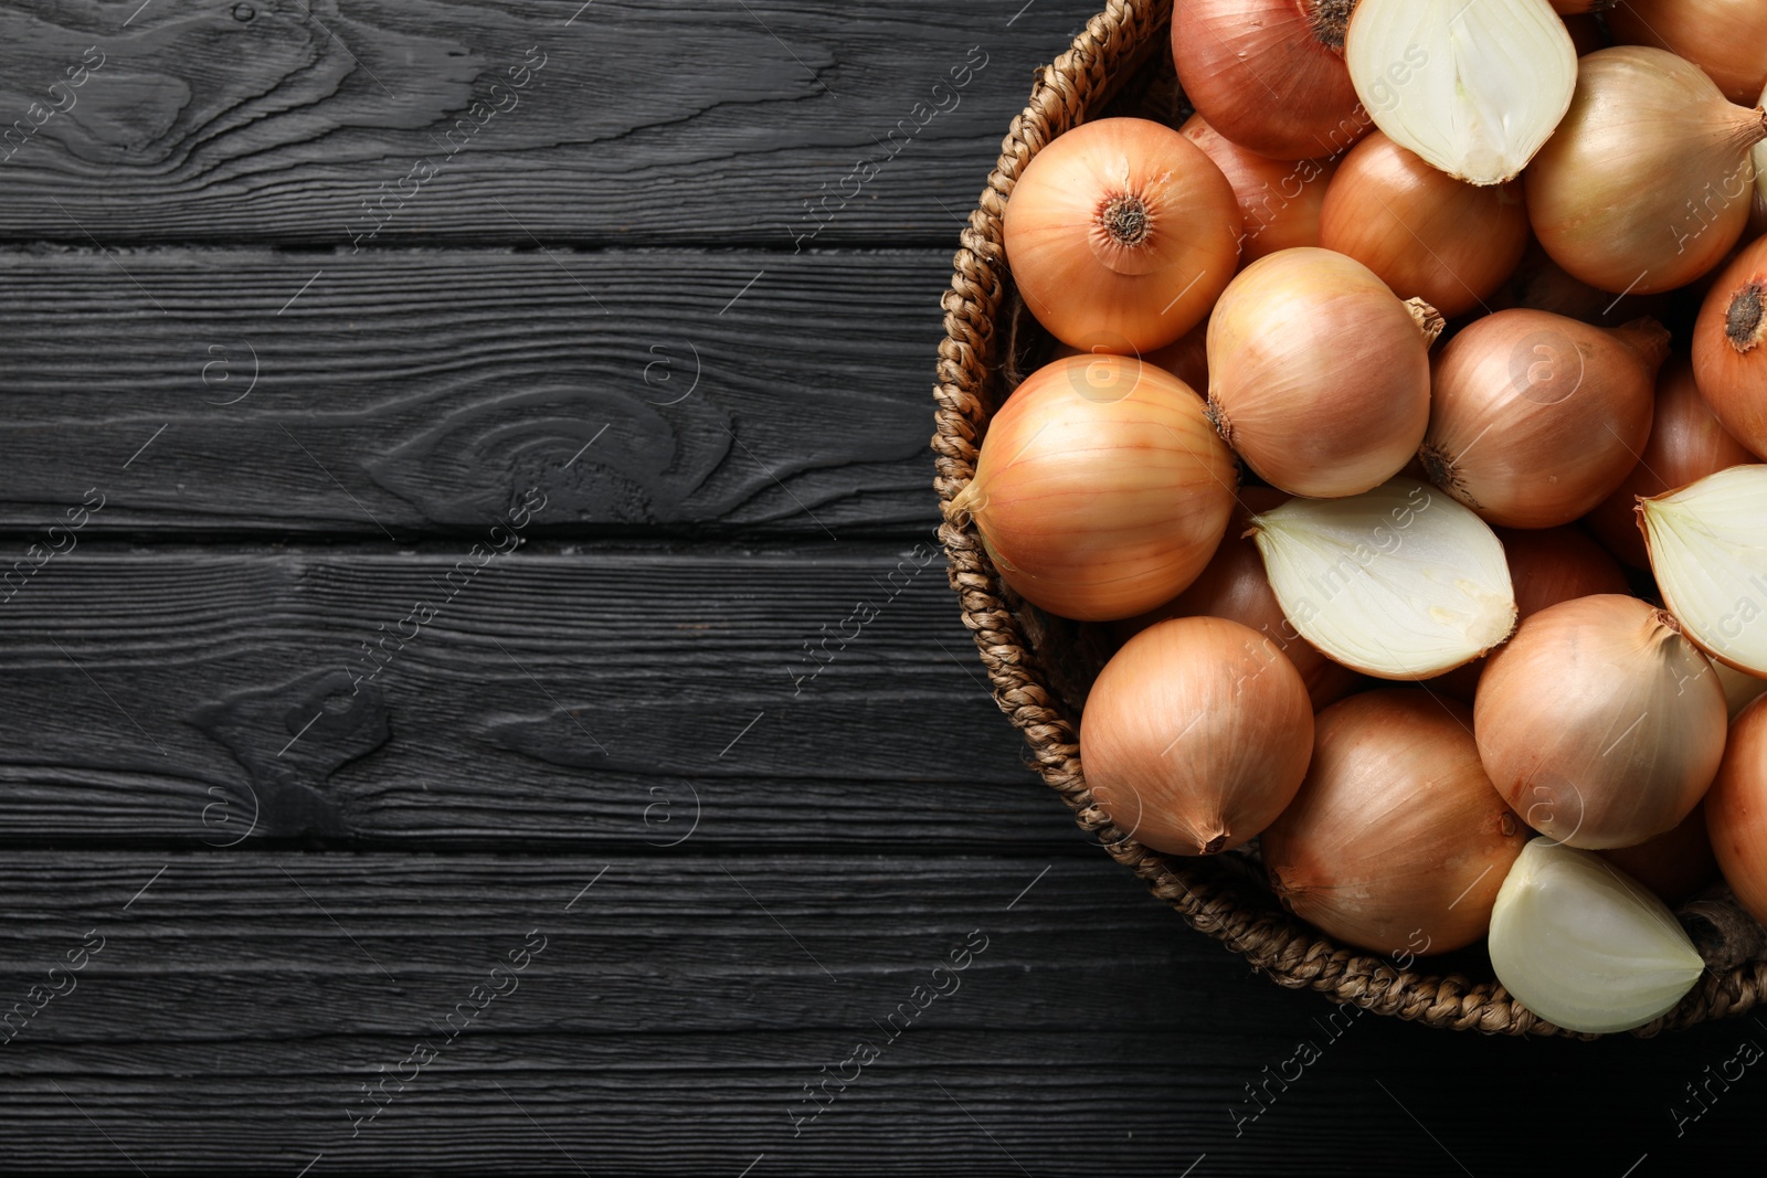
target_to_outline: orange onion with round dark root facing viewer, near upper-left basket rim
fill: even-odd
[[[1080,124],[1037,152],[1005,205],[1020,295],[1081,351],[1170,344],[1239,268],[1233,187],[1200,147],[1147,118]]]

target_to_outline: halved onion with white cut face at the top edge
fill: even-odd
[[[1345,62],[1375,125],[1468,184],[1514,180],[1576,85],[1546,0],[1359,0]]]

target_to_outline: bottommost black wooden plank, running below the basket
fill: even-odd
[[[1695,1173],[1758,1107],[1668,1114],[1746,1019],[1334,1016],[1103,857],[21,853],[0,888],[0,996],[64,991],[0,1047],[21,1173]]]

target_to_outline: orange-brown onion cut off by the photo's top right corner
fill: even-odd
[[[1767,87],[1767,5],[1760,0],[1619,0],[1608,28],[1620,44],[1687,58],[1732,102],[1755,102]]]

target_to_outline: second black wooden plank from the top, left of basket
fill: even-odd
[[[553,533],[921,535],[949,270],[5,253],[0,528],[41,533],[94,489],[94,533],[481,532],[539,487]]]

